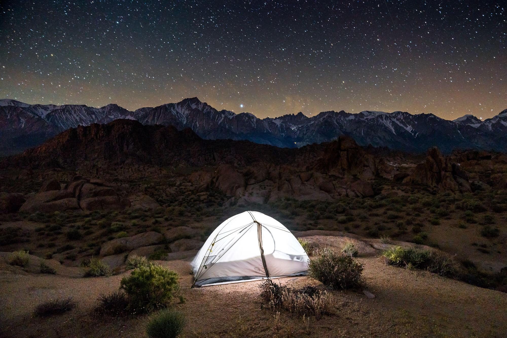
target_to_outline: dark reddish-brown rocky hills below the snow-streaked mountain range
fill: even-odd
[[[128,179],[144,177],[150,170],[158,174],[169,170],[197,192],[218,189],[237,200],[256,203],[283,197],[374,196],[377,180],[473,192],[488,184],[503,189],[507,179],[502,174],[487,174],[493,166],[507,164],[501,154],[470,151],[445,157],[438,148],[430,148],[420,160],[364,148],[346,136],[289,149],[248,141],[203,140],[190,129],[116,120],[71,128],[0,164],[4,170],[15,171],[65,169],[94,176],[110,171]]]

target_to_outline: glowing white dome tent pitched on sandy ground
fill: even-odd
[[[245,211],[216,228],[192,261],[194,286],[306,275],[308,255],[279,221]]]

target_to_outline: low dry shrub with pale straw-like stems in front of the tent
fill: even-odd
[[[261,297],[270,310],[283,309],[296,316],[314,315],[317,319],[323,314],[332,313],[334,299],[331,293],[307,286],[293,289],[264,280],[260,285]]]

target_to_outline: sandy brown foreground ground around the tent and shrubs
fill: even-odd
[[[507,293],[482,289],[425,271],[384,265],[376,257],[365,265],[366,288],[376,295],[334,291],[336,312],[307,325],[301,318],[261,309],[259,282],[191,289],[188,261],[159,261],[177,271],[186,298],[175,307],[188,318],[184,337],[504,337]],[[128,274],[129,272],[125,273]],[[5,337],[139,337],[147,317],[95,318],[90,315],[100,293],[118,288],[125,275],[71,278],[0,271],[0,336]],[[283,278],[300,287],[307,277]],[[35,306],[51,298],[73,296],[78,308],[64,315],[35,318]]]

